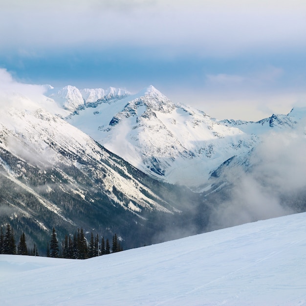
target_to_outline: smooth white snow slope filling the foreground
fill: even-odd
[[[1,305],[306,305],[305,218],[85,261],[0,255]]]

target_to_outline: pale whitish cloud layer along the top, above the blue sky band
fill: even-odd
[[[230,56],[306,46],[302,1],[12,1],[0,5],[6,47],[159,46]],[[302,5],[302,6],[301,6]]]

